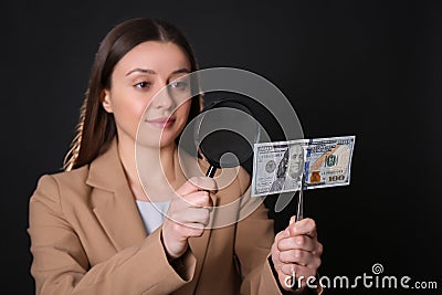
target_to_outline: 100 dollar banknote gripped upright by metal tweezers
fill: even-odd
[[[255,144],[252,197],[349,185],[354,146],[355,136]]]

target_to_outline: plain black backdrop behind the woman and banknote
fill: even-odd
[[[28,201],[60,170],[98,42],[133,17],[179,27],[200,67],[257,73],[305,137],[356,135],[351,183],[306,193],[322,275],[440,280],[442,7],[433,1],[2,3],[2,294],[32,294]],[[135,274],[136,275],[136,274]],[[435,294],[359,288],[327,294]]]

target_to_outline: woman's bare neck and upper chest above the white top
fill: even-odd
[[[118,140],[118,154],[135,199],[164,201],[175,187],[176,145],[135,149],[134,140]],[[137,154],[137,155],[136,155]],[[141,186],[143,183],[143,186]],[[148,194],[148,196],[146,196]]]

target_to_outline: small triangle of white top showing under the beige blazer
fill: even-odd
[[[165,220],[165,214],[169,209],[170,201],[166,202],[148,202],[135,200],[138,211],[141,214],[143,222],[145,223],[147,234],[152,233],[158,229]]]

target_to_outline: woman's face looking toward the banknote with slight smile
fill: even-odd
[[[135,143],[140,124],[144,144],[172,144],[187,123],[191,103],[190,85],[176,80],[188,73],[187,55],[171,42],[147,41],[124,55],[103,97],[103,107],[114,114],[118,140]]]

